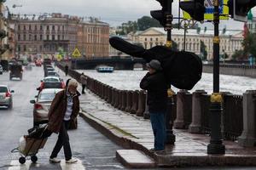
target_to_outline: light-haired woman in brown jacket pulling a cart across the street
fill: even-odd
[[[58,163],[57,155],[63,146],[64,155],[67,163],[74,163],[77,160],[72,158],[72,151],[69,144],[67,129],[69,122],[73,121],[79,114],[79,92],[77,91],[78,82],[70,79],[66,84],[65,90],[55,95],[55,99],[49,108],[48,130],[52,133],[59,133],[54,150],[49,156],[49,161]]]

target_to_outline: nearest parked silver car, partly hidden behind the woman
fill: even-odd
[[[48,122],[48,112],[52,100],[55,98],[55,94],[60,92],[61,88],[44,88],[36,99],[30,100],[30,103],[34,105],[33,109],[33,125],[38,126]]]

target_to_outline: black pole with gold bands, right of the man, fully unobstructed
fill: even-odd
[[[221,134],[221,103],[223,101],[219,93],[219,0],[214,0],[214,38],[213,38],[213,94],[211,95],[210,127],[211,139],[207,145],[208,154],[224,154],[225,146]]]

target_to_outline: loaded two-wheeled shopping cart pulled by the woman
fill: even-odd
[[[19,152],[20,164],[26,162],[26,157],[31,156],[32,162],[38,161],[38,150],[44,148],[44,144],[47,141],[51,133],[47,130],[47,125],[40,125],[39,127],[33,127],[28,130],[28,135],[20,137],[20,143],[17,148],[11,150],[12,153]]]

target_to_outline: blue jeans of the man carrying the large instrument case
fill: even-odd
[[[154,150],[165,150],[165,113],[150,113],[150,122],[154,133]]]

